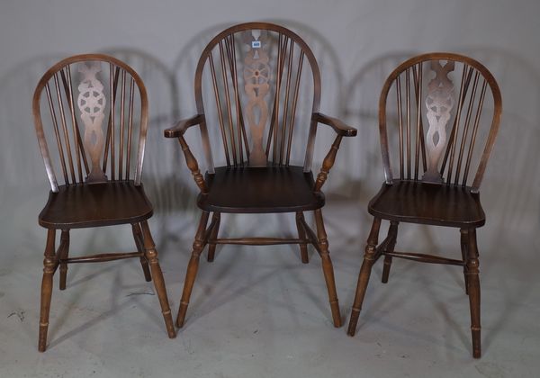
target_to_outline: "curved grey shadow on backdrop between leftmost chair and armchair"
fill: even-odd
[[[143,169],[145,192],[154,206],[153,222],[157,226],[154,235],[161,257],[169,252],[169,241],[176,235],[184,235],[187,224],[171,220],[179,214],[194,211],[196,197],[191,173],[185,168],[184,156],[174,140],[166,139],[163,131],[179,118],[182,95],[171,70],[159,58],[139,49],[111,48],[104,50],[120,58],[141,76],[148,91],[149,120],[146,155]],[[180,157],[180,161],[178,159]],[[175,223],[175,229],[171,229]],[[150,223],[151,224],[151,223]]]

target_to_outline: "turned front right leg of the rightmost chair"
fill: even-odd
[[[467,275],[469,286],[469,304],[471,306],[471,332],[473,337],[473,357],[480,358],[481,326],[480,326],[480,277],[478,262],[478,246],[476,244],[476,229],[468,231]]]

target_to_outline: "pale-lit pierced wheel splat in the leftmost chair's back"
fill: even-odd
[[[103,84],[96,77],[97,73],[101,72],[101,64],[97,61],[90,62],[89,66],[81,63],[78,72],[83,75],[83,79],[78,85],[77,105],[81,112],[81,120],[85,123],[85,149],[92,161],[92,170],[86,177],[86,181],[103,182],[107,181],[107,176],[100,167],[104,144],[102,125],[106,100]]]

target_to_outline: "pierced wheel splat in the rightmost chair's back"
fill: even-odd
[[[438,162],[446,146],[446,124],[450,120],[450,112],[454,107],[454,84],[448,74],[454,71],[454,61],[447,61],[442,66],[438,60],[432,60],[431,69],[436,76],[428,84],[426,107],[429,129],[426,135],[428,149],[428,170],[422,180],[431,183],[442,183],[443,177],[438,170]]]

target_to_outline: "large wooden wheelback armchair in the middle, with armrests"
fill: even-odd
[[[302,84],[302,72],[308,70],[311,76],[305,85],[311,86],[311,94],[304,92]],[[210,83],[203,83],[205,77]],[[203,101],[203,89],[211,92],[207,103]],[[356,130],[319,112],[320,71],[311,49],[293,31],[271,23],[230,27],[202,51],[195,72],[195,101],[197,114],[165,131],[166,138],[180,142],[201,191],[197,204],[202,216],[187,267],[177,326],[184,325],[199,257],[207,244],[208,261],[213,261],[217,244],[298,244],[303,263],[308,263],[307,244],[311,244],[322,259],[332,318],[340,327],[338,295],[321,212],[325,198],[320,189],[334,164],[341,139],[355,136]],[[303,135],[297,132],[302,125],[295,129],[300,103],[311,106],[306,117],[309,131],[306,127]],[[217,121],[209,120],[204,105],[217,112]],[[336,131],[337,137],[315,181],[311,158],[319,123]],[[201,130],[208,166],[205,176],[184,139],[184,132],[194,125]],[[220,138],[221,147],[215,155],[211,151],[211,133]],[[305,148],[304,163],[294,166],[292,151],[300,148]],[[220,158],[224,166],[214,167],[214,157]],[[304,211],[314,211],[317,233],[306,223]],[[207,228],[210,212],[213,215]],[[294,212],[298,238],[218,238],[223,212]]]

